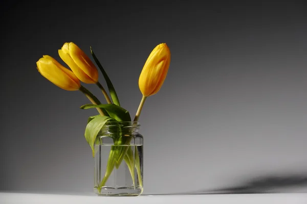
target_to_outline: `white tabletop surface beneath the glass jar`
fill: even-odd
[[[56,195],[34,193],[0,193],[1,204],[91,204],[91,203],[212,203],[212,204],[306,204],[307,193],[279,194],[211,194],[211,195],[142,195],[139,197],[101,197],[97,195]]]

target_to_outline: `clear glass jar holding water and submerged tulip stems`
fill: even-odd
[[[143,136],[138,122],[111,122],[95,141],[94,192],[138,196],[143,192]]]

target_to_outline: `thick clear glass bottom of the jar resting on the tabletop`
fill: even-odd
[[[130,186],[119,186],[117,188],[104,186],[101,188],[100,193],[98,188],[94,188],[94,193],[99,196],[139,196],[143,192],[143,188],[130,187]]]

